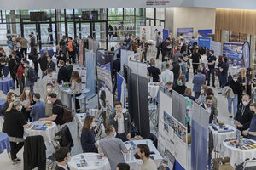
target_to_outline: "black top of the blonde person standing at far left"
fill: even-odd
[[[25,117],[20,111],[12,109],[4,115],[3,133],[7,133],[9,137],[23,138],[25,124]]]

